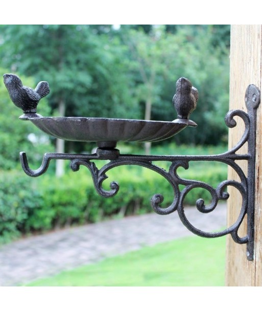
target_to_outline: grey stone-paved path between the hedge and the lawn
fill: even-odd
[[[192,224],[204,231],[226,226],[226,204],[208,214],[185,209]],[[15,286],[63,270],[193,235],[177,212],[131,216],[23,238],[0,248],[0,285]]]

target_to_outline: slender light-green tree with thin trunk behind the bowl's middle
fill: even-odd
[[[163,86],[163,77],[169,72],[172,46],[162,26],[154,27],[149,34],[131,29],[125,33],[124,42],[130,50],[130,69],[136,80],[137,98],[145,103],[144,118],[150,120],[152,105],[158,100]],[[145,147],[149,154],[151,143],[146,142]]]

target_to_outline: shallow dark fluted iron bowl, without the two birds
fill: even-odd
[[[33,115],[32,115],[33,116]],[[89,117],[31,117],[30,120],[46,134],[73,141],[159,141],[180,132],[186,126],[197,126],[187,119],[172,122],[135,119],[89,118]]]

